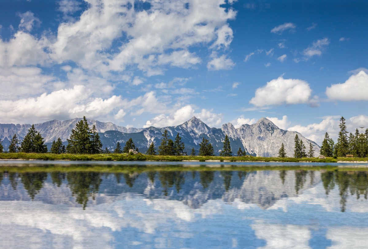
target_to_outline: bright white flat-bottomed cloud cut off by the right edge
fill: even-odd
[[[368,100],[368,75],[363,70],[351,75],[345,83],[326,87],[329,100],[358,101]]]

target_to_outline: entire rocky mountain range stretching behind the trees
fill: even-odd
[[[42,134],[46,144],[50,147],[51,142],[59,137],[66,143],[71,130],[79,120],[81,118],[65,121],[52,120],[35,124],[35,128]],[[247,152],[247,155],[277,156],[281,144],[284,143],[287,156],[292,156],[294,154],[294,138],[296,134],[298,134],[298,137],[304,142],[306,147],[308,147],[309,143],[314,146],[315,156],[319,155],[321,149],[318,144],[303,137],[300,133],[282,130],[266,118],[261,118],[252,125],[242,125],[237,129],[231,123],[223,124],[221,128],[210,128],[196,117],[191,118],[181,125],[163,128],[153,126],[148,128],[127,128],[114,125],[111,122],[103,123],[92,119],[88,119],[88,123],[90,126],[96,126],[103,148],[107,147],[110,150],[116,147],[117,142],[124,145],[129,138],[133,139],[135,145],[141,152],[145,152],[152,142],[157,148],[165,129],[169,132],[172,140],[179,133],[185,144],[184,151],[188,154],[192,148],[198,152],[199,143],[205,137],[213,145],[215,154],[219,155],[223,147],[225,135],[228,135],[230,138],[233,155],[237,153],[238,148],[241,148]],[[29,124],[0,124],[0,139],[3,140],[4,147],[8,147],[9,140],[14,133],[22,139],[30,127],[31,125]]]

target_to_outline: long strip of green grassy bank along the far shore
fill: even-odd
[[[235,162],[319,162],[319,163],[336,163],[338,161],[367,161],[367,158],[272,158],[272,157],[223,157],[223,156],[150,156],[138,153],[137,155],[128,154],[98,154],[98,155],[74,155],[74,154],[30,154],[30,153],[1,153],[0,159],[25,159],[25,160],[76,160],[76,161],[171,161],[178,162],[182,160],[220,160]]]

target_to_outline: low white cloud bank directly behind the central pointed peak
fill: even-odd
[[[195,113],[195,109],[191,105],[186,105],[180,109],[177,109],[174,113],[169,116],[165,114],[160,114],[148,120],[146,125],[143,127],[166,127],[166,126],[176,126],[181,125],[185,121],[192,118],[192,116],[196,116],[201,119],[206,125],[211,127],[219,127],[221,125],[222,114],[212,113],[213,110],[202,109],[201,112]]]

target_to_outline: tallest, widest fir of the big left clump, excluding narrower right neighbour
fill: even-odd
[[[91,154],[91,130],[85,116],[71,130],[67,151],[71,154]]]

